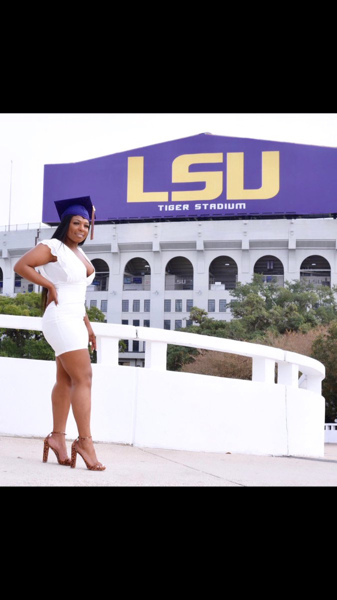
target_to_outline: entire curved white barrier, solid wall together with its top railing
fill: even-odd
[[[41,331],[41,322],[41,317],[0,314],[0,328]],[[197,452],[324,456],[320,362],[183,331],[113,323],[92,323],[92,328],[98,360],[92,365],[95,440]],[[145,368],[118,364],[124,339],[146,342]],[[252,380],[167,371],[167,344],[251,356]],[[55,361],[0,356],[0,433],[46,436],[55,374]],[[67,434],[77,436],[72,414]]]

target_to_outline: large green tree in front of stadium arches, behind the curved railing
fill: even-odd
[[[317,325],[337,319],[335,293],[337,286],[314,286],[305,281],[285,281],[284,287],[263,280],[254,274],[251,282],[238,283],[230,294],[230,321],[216,320],[207,311],[194,306],[189,319],[193,324],[182,331],[212,335],[232,340],[263,343],[267,335],[292,331],[306,333]],[[194,360],[191,349],[168,347],[167,368],[179,370],[186,362]]]

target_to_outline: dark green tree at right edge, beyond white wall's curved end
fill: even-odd
[[[322,382],[322,395],[326,401],[326,423],[337,418],[337,320],[333,320],[326,334],[318,335],[312,344],[312,357],[322,362],[326,376]]]

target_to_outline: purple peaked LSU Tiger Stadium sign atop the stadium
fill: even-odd
[[[55,200],[90,196],[98,222],[337,212],[337,149],[201,133],[80,163],[44,166]]]

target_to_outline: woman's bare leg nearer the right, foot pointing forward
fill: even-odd
[[[90,437],[87,440],[79,440],[77,448],[89,464],[94,464],[97,462],[97,456],[90,430],[92,368],[89,352],[86,349],[73,350],[64,352],[58,358],[71,379],[71,409],[79,437]]]

